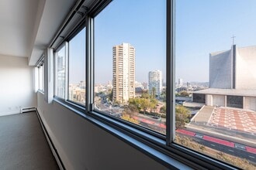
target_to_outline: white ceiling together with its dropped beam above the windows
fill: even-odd
[[[1,0],[0,55],[35,65],[77,0]]]

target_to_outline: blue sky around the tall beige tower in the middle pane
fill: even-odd
[[[152,70],[164,72],[165,20],[164,1],[111,2],[95,19],[95,83],[112,80],[112,46],[122,42],[136,50],[136,80],[147,82]]]

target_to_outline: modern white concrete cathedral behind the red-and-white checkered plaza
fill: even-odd
[[[210,53],[209,89],[195,91],[193,101],[256,110],[256,46]]]

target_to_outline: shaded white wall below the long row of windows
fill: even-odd
[[[66,169],[167,169],[57,102],[37,94],[38,111]]]

